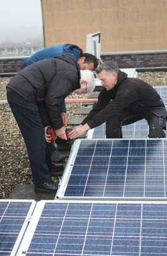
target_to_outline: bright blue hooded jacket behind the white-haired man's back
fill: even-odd
[[[37,51],[37,53],[34,53],[27,59],[23,59],[20,63],[20,68],[23,69],[37,61],[41,61],[42,59],[50,59],[56,56],[62,56],[65,53],[72,53],[76,59],[79,59],[83,51],[79,48],[79,46],[75,44],[55,44],[54,46],[49,46]],[[66,112],[65,101],[61,105],[61,111]]]

